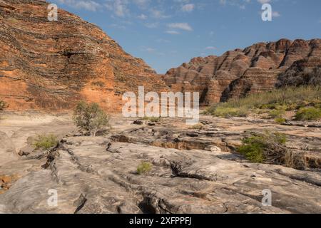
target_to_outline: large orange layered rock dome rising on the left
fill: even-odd
[[[49,21],[48,4],[0,0],[0,98],[11,110],[68,110],[81,99],[117,110],[125,91],[165,88],[97,26],[60,9]]]

